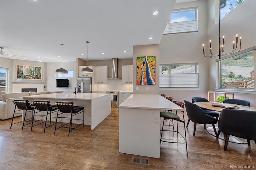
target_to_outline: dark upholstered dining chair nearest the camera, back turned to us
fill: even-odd
[[[218,135],[222,131],[226,134],[224,150],[227,150],[229,136],[247,139],[248,146],[250,140],[256,143],[256,111],[222,109],[218,120]]]

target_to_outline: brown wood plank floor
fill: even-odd
[[[11,119],[0,121],[1,170],[220,170],[229,169],[230,165],[252,165],[256,168],[256,145],[253,141],[251,147],[228,143],[228,149],[224,151],[224,141],[208,134],[203,125],[197,125],[193,136],[192,122],[186,128],[188,155],[184,144],[161,143],[160,158],[149,158],[150,166],[133,164],[132,156],[135,155],[118,152],[118,108],[112,108],[112,113],[94,130],[91,131],[89,125],[80,126],[70,133],[70,137],[66,128],[58,129],[54,135],[54,127],[44,133],[42,125],[33,127],[32,131],[28,125],[22,131],[20,123],[13,125],[12,129],[10,123]],[[181,123],[178,128],[184,131]],[[165,133],[164,137],[168,135],[170,133]]]

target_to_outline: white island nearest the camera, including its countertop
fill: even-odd
[[[118,107],[119,152],[160,158],[160,111],[184,109],[157,94],[132,94]]]

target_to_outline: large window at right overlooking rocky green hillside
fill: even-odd
[[[256,50],[220,61],[220,88],[254,89],[254,59]]]

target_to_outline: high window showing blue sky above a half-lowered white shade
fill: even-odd
[[[197,11],[197,7],[173,10],[164,34],[198,31]]]

